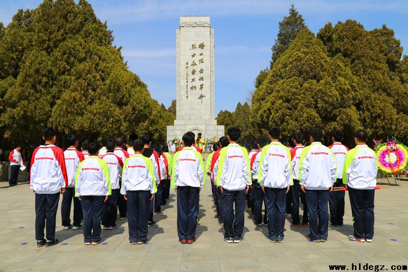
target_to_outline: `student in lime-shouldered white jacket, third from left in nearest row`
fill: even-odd
[[[127,203],[129,241],[143,244],[147,241],[149,204],[157,192],[156,176],[151,160],[142,155],[143,140],[135,140],[133,147],[135,155],[126,159],[123,165],[120,193]]]

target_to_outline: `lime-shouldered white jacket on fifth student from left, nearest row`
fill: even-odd
[[[217,170],[217,186],[226,190],[243,190],[251,185],[248,153],[238,143],[230,143],[220,152]]]

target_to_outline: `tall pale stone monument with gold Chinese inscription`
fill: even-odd
[[[208,16],[180,17],[176,30],[176,120],[167,126],[167,142],[184,133],[224,136],[214,117],[214,29]]]

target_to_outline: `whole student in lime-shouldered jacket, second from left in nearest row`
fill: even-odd
[[[89,144],[89,156],[81,162],[75,178],[75,196],[79,197],[84,214],[84,242],[86,245],[98,244],[100,240],[100,221],[104,203],[111,194],[109,168],[98,157],[99,145]]]

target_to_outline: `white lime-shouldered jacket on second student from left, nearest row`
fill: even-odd
[[[75,178],[75,196],[111,193],[109,168],[106,162],[96,156],[89,156],[82,161]]]

